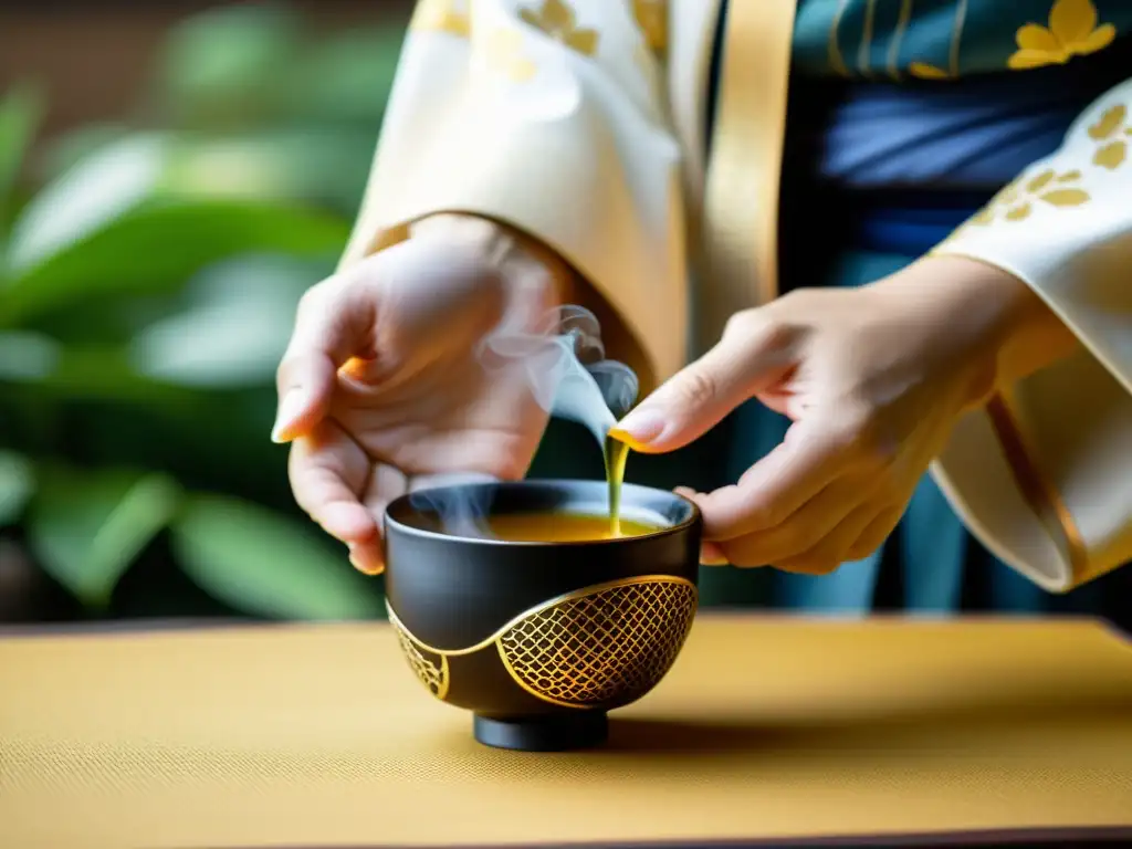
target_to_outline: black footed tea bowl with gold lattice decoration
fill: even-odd
[[[582,480],[440,487],[386,511],[389,621],[420,681],[473,713],[480,743],[598,745],[607,713],[679,654],[698,600],[692,501],[626,484],[621,515],[658,529],[643,535],[515,542],[484,530],[492,515],[608,512],[606,483]]]

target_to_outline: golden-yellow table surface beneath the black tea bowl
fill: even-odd
[[[1132,840],[1132,645],[1090,621],[704,615],[601,749],[470,724],[384,625],[9,633],[0,846]]]

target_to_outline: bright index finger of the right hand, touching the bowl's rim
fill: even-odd
[[[778,528],[838,480],[848,465],[843,440],[835,432],[812,420],[800,421],[738,483],[696,498],[704,533],[710,540],[729,540]]]

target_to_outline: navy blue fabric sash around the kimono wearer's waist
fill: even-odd
[[[726,0],[721,7],[709,130]],[[1064,66],[947,83],[796,74],[783,191],[824,195],[823,206],[838,211],[830,223],[842,232],[848,224],[859,239],[844,247],[923,254],[1026,166],[1056,151],[1096,97],[1132,77],[1132,38],[1121,41]],[[784,206],[791,201],[783,198]]]

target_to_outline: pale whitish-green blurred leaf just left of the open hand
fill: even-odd
[[[213,266],[189,284],[187,309],[138,334],[131,362],[142,375],[181,386],[271,384],[299,299],[318,277],[309,263],[275,256]]]

